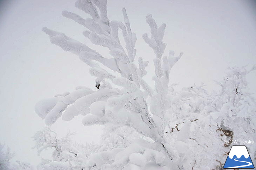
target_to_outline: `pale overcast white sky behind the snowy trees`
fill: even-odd
[[[45,126],[34,112],[42,98],[73,91],[76,86],[94,88],[94,77],[74,54],[49,42],[42,27],[92,46],[108,57],[106,48],[91,45],[79,24],[62,17],[69,10],[88,17],[74,7],[74,0],[1,0],[0,1],[0,143],[15,152],[16,160],[39,163],[33,134]],[[151,13],[157,24],[166,23],[164,42],[169,50],[184,52],[171,71],[171,83],[180,87],[205,82],[216,89],[228,66],[250,68],[256,64],[255,0],[109,0],[110,20],[123,21],[126,7],[133,32],[137,35],[137,57],[150,61],[146,78],[153,74],[153,51],[142,40],[150,32],[145,16]],[[135,59],[136,60],[136,59]],[[256,92],[256,72],[248,76],[249,89]],[[70,122],[58,120],[52,127],[60,136],[78,131],[78,142],[99,142],[99,126],[84,127],[80,117]]]

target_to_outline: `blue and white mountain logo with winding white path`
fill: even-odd
[[[254,165],[251,161],[251,157],[248,153],[246,146],[243,146],[243,145],[232,146],[223,168],[254,169]]]

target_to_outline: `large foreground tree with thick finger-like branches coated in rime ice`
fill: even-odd
[[[43,28],[43,31],[49,35],[50,42],[65,51],[78,55],[90,67],[90,73],[96,77],[96,87],[99,90],[78,88],[70,94],[40,101],[35,110],[41,118],[45,119],[47,125],[52,125],[59,117],[62,117],[63,120],[71,120],[74,116],[82,114],[85,116],[82,120],[84,125],[110,123],[115,126],[130,126],[154,141],[153,144],[148,143],[147,147],[144,146],[144,149],[141,148],[144,150],[143,152],[152,149],[153,146],[158,148],[157,150],[163,150],[162,157],[166,158],[161,163],[156,160],[154,162],[159,166],[168,165],[171,151],[167,149],[168,143],[164,137],[164,128],[168,126],[165,102],[170,69],[180,59],[182,53],[178,57],[173,57],[174,52],[170,52],[169,57],[162,57],[166,47],[166,44],[163,43],[166,25],[162,24],[157,27],[152,15],[148,14],[146,22],[151,29],[151,38],[144,34],[143,39],[156,55],[154,59],[155,76],[153,76],[155,87],[151,88],[143,80],[143,76],[147,74],[145,68],[148,61],[143,61],[142,57],[139,57],[138,66],[134,63],[136,35],[132,32],[126,9],[122,9],[124,22],[109,21],[106,5],[105,0],[78,0],[75,6],[89,14],[91,18],[84,19],[78,14],[68,11],[63,11],[62,15],[86,27],[87,30],[83,32],[83,35],[89,38],[93,44],[107,47],[113,58],[103,57],[87,45],[63,33]],[[122,35],[119,35],[119,29]],[[124,38],[124,47],[120,44],[120,36]],[[101,68],[98,63],[118,72],[120,76],[112,75]],[[113,88],[111,83],[120,88]],[[149,104],[146,102],[147,96],[151,98]],[[153,149],[156,149],[154,147]],[[133,149],[125,150],[127,148],[124,148],[123,151],[129,160]],[[155,154],[156,151],[147,153],[149,157],[150,155],[155,157]],[[142,157],[147,158],[145,154]],[[113,161],[108,162],[107,167],[130,164],[126,159]],[[101,167],[101,165],[96,166]]]

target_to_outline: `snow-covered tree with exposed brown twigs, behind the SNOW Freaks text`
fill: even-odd
[[[255,99],[247,93],[245,79],[254,69],[229,68],[227,76],[217,82],[221,90],[214,94],[195,85],[173,94],[172,128],[167,134],[170,142],[176,143],[174,150],[176,156],[180,156],[179,169],[220,170],[231,146],[242,145],[232,142],[255,141]],[[255,157],[255,146],[249,145],[248,149]]]

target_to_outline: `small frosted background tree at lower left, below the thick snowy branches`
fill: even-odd
[[[72,133],[68,133],[62,138],[58,138],[56,132],[45,128],[34,135],[36,145],[40,155],[42,151],[53,149],[51,159],[43,159],[38,165],[41,169],[82,169],[85,167],[88,155],[92,152],[100,150],[99,146],[86,143],[81,145],[72,143]]]

